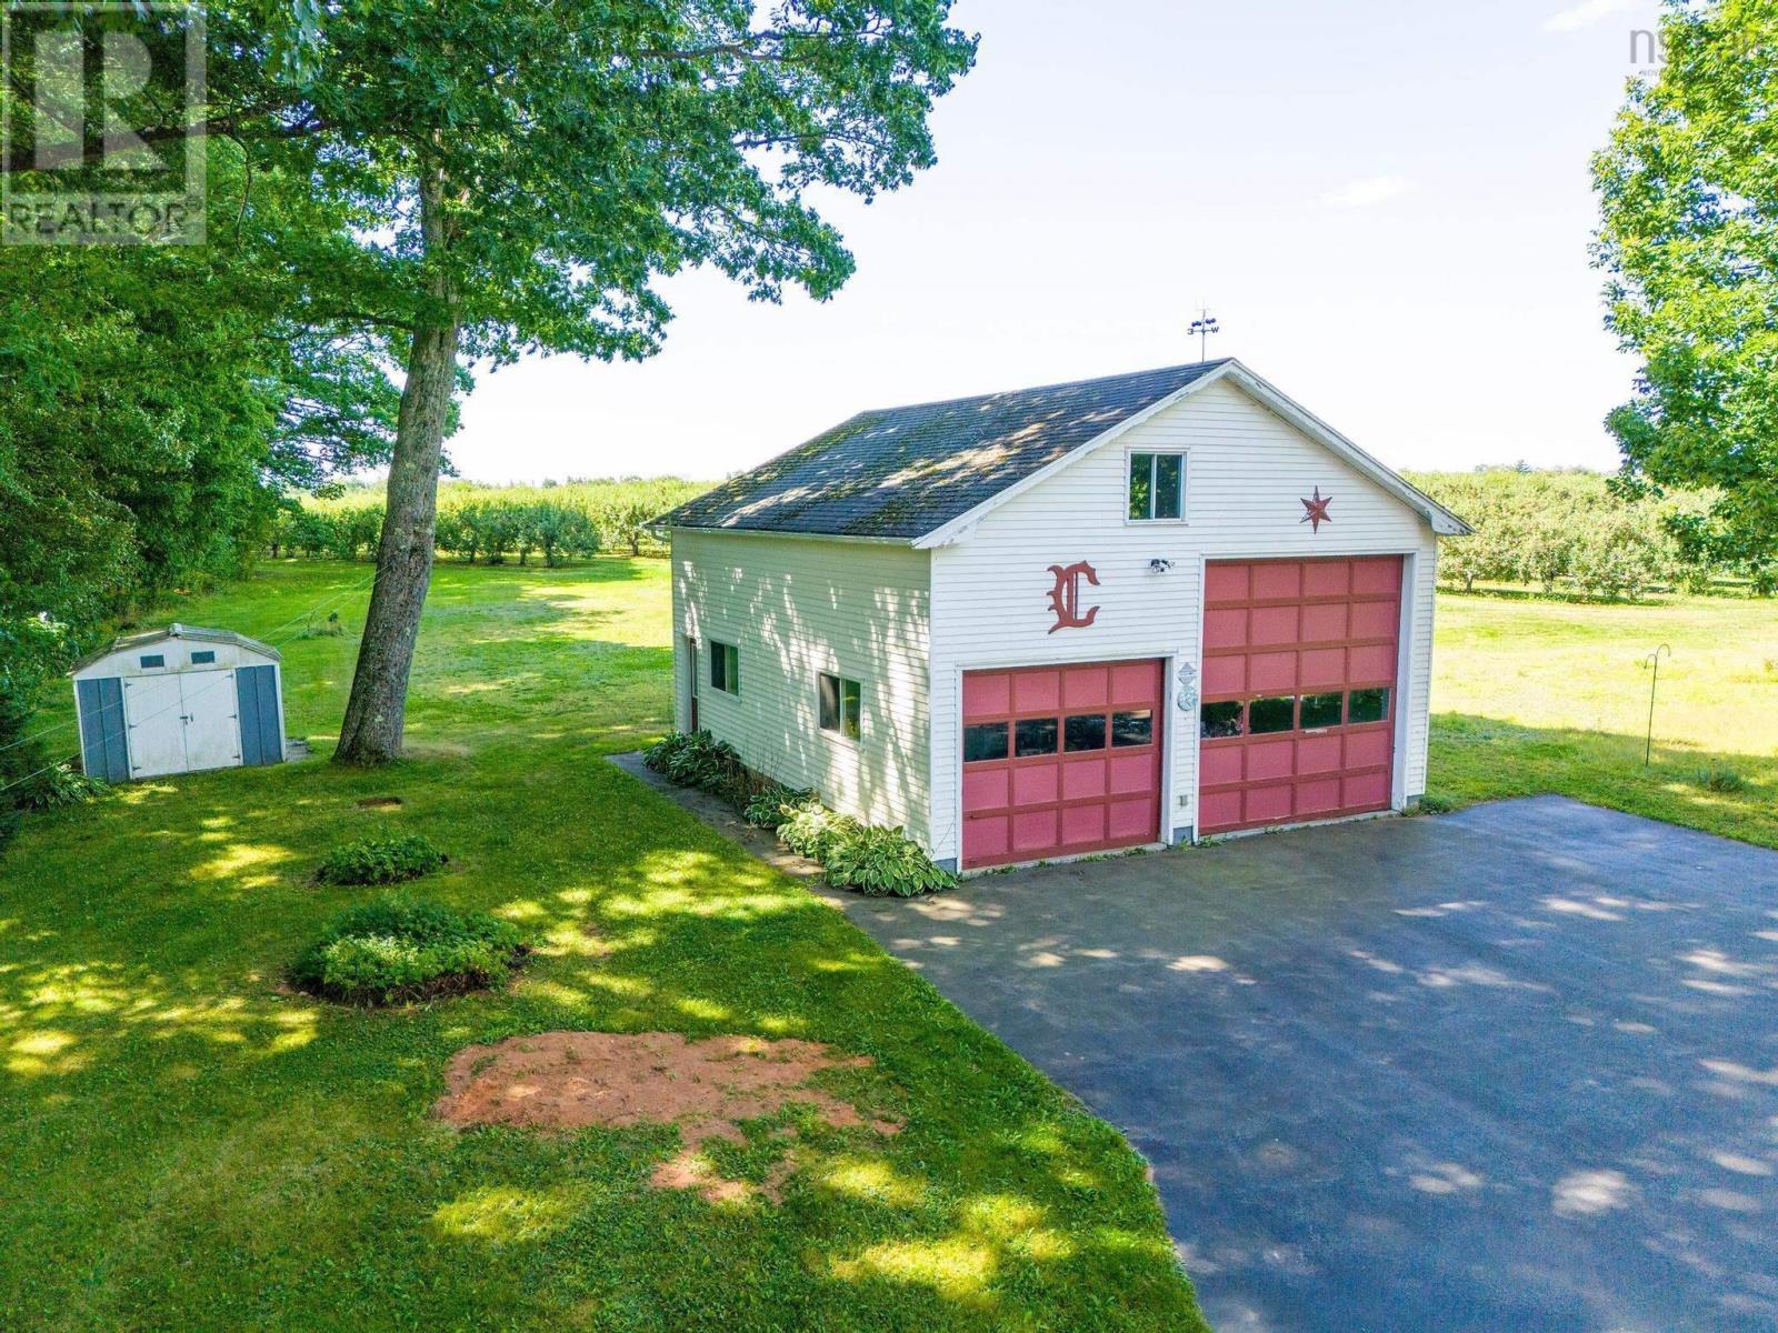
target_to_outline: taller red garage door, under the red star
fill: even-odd
[[[1401,556],[1204,572],[1198,832],[1387,810]]]

